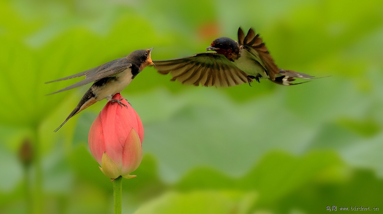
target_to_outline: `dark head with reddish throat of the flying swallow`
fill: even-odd
[[[231,61],[236,60],[239,56],[238,42],[228,37],[219,37],[218,39],[215,39],[206,50],[214,50],[219,54],[223,54]]]

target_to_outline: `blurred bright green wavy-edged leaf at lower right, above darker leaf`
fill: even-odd
[[[283,152],[268,153],[241,178],[228,177],[212,169],[200,168],[189,172],[177,184],[180,190],[240,189],[260,193],[260,203],[275,201],[301,185],[322,177],[329,170],[344,167],[335,153],[316,152],[294,157]],[[345,174],[331,174],[331,178]],[[328,180],[326,180],[328,182]]]

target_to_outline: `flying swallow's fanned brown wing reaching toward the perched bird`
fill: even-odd
[[[172,75],[187,85],[229,87],[247,83],[247,74],[237,68],[224,55],[218,53],[198,53],[193,56],[173,60],[153,61],[160,74]]]

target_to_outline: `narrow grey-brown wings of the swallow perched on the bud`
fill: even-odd
[[[104,77],[110,77],[115,74],[118,74],[119,72],[125,71],[125,69],[128,69],[132,66],[131,63],[129,63],[128,59],[126,58],[120,58],[117,60],[110,61],[108,63],[102,64],[96,68],[89,69],[87,71],[83,71],[78,74],[74,74],[69,77],[64,77],[61,79],[53,80],[51,82],[56,82],[60,80],[66,80],[66,79],[71,79],[74,77],[81,77],[81,76],[86,76],[85,79],[81,80],[80,82],[76,82],[73,85],[70,85],[68,87],[65,87],[61,90],[58,90],[57,92],[50,93],[48,95],[54,94],[54,93],[59,93],[62,91],[66,91],[72,88],[80,87],[82,85],[86,85],[90,82],[95,82],[97,80],[100,80]],[[49,82],[46,82],[49,83]]]

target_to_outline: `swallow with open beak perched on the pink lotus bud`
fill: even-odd
[[[82,111],[85,108],[93,105],[97,101],[107,99],[108,101],[117,102],[121,108],[126,106],[121,100],[112,99],[113,95],[124,90],[126,86],[132,82],[134,77],[137,76],[146,66],[154,65],[152,62],[150,53],[153,48],[144,49],[144,50],[135,50],[129,53],[128,56],[116,60],[112,60],[108,63],[102,64],[96,68],[89,69],[87,71],[74,74],[69,77],[64,77],[61,79],[53,80],[50,82],[56,82],[61,80],[72,79],[74,77],[85,76],[84,80],[77,82],[73,85],[70,85],[66,88],[58,90],[57,92],[50,93],[48,95],[66,91],[72,88],[76,88],[82,85],[86,85],[90,82],[94,82],[85,95],[81,98],[79,104],[76,108],[69,114],[67,119],[59,126],[59,130],[69,119],[70,117],[75,116],[77,113]],[[50,83],[46,82],[46,83]],[[128,107],[128,106],[126,106]]]

